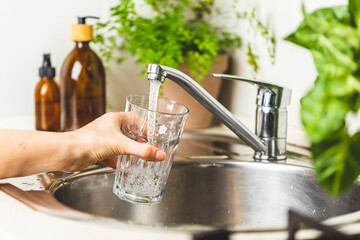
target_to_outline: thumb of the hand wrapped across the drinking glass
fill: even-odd
[[[166,153],[154,146],[136,142],[126,136],[123,140],[123,151],[120,154],[134,155],[146,161],[163,161],[166,158]]]

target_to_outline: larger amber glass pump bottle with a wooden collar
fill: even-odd
[[[71,131],[105,113],[105,71],[90,48],[92,26],[79,17],[71,26],[75,48],[66,57],[60,73],[61,131]]]

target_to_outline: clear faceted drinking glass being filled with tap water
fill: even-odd
[[[121,131],[135,141],[161,149],[166,159],[153,162],[133,155],[118,156],[113,192],[120,199],[133,203],[159,203],[189,110],[159,97],[157,110],[152,111],[149,95],[130,95],[126,98],[125,112],[131,113],[130,119],[125,121]]]

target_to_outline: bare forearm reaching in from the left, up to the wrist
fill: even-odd
[[[80,158],[71,133],[0,129],[0,179],[65,170]]]

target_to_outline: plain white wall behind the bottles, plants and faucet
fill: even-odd
[[[0,0],[0,127],[1,119],[9,117],[21,117],[27,122],[33,119],[34,88],[39,80],[38,68],[42,54],[51,52],[58,79],[61,64],[74,46],[70,40],[70,25],[76,23],[76,17],[81,15],[106,18],[107,10],[114,2]],[[249,2],[257,5],[262,19],[269,22],[278,42],[275,65],[269,64],[266,49],[259,42],[258,50],[263,60],[258,78],[293,89],[292,102],[288,108],[289,135],[296,135],[297,132],[291,129],[301,129],[299,100],[312,86],[316,71],[308,51],[282,39],[293,32],[302,20],[302,0]],[[346,0],[305,0],[309,11],[345,3]],[[244,52],[237,51],[232,57],[233,74],[252,77]],[[107,71],[107,96],[113,110],[123,109],[126,95],[148,91],[146,80],[138,77],[139,72],[131,58],[120,66],[110,64]],[[223,94],[226,97],[222,101],[232,112],[240,118],[254,116],[256,90],[252,86],[228,82],[223,91],[227,94]]]

